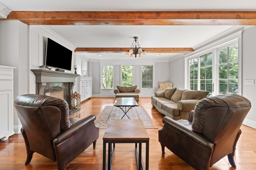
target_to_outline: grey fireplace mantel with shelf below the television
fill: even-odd
[[[73,93],[76,77],[79,74],[72,74],[67,72],[58,72],[42,69],[31,69],[36,75],[36,94],[44,95],[44,88],[46,83],[68,83],[68,105],[70,105],[70,94]]]

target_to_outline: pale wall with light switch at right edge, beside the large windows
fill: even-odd
[[[252,103],[245,125],[256,128],[256,84],[244,84],[246,79],[256,80],[256,26],[245,29],[242,34],[242,96]]]

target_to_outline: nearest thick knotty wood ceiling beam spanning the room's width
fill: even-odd
[[[256,25],[256,11],[12,11],[28,25]]]

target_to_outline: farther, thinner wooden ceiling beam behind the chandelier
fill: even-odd
[[[130,48],[76,48],[79,53],[124,53]],[[192,48],[143,48],[147,53],[186,53],[192,52]]]

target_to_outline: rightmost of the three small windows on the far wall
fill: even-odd
[[[153,66],[141,66],[142,88],[153,88]]]

